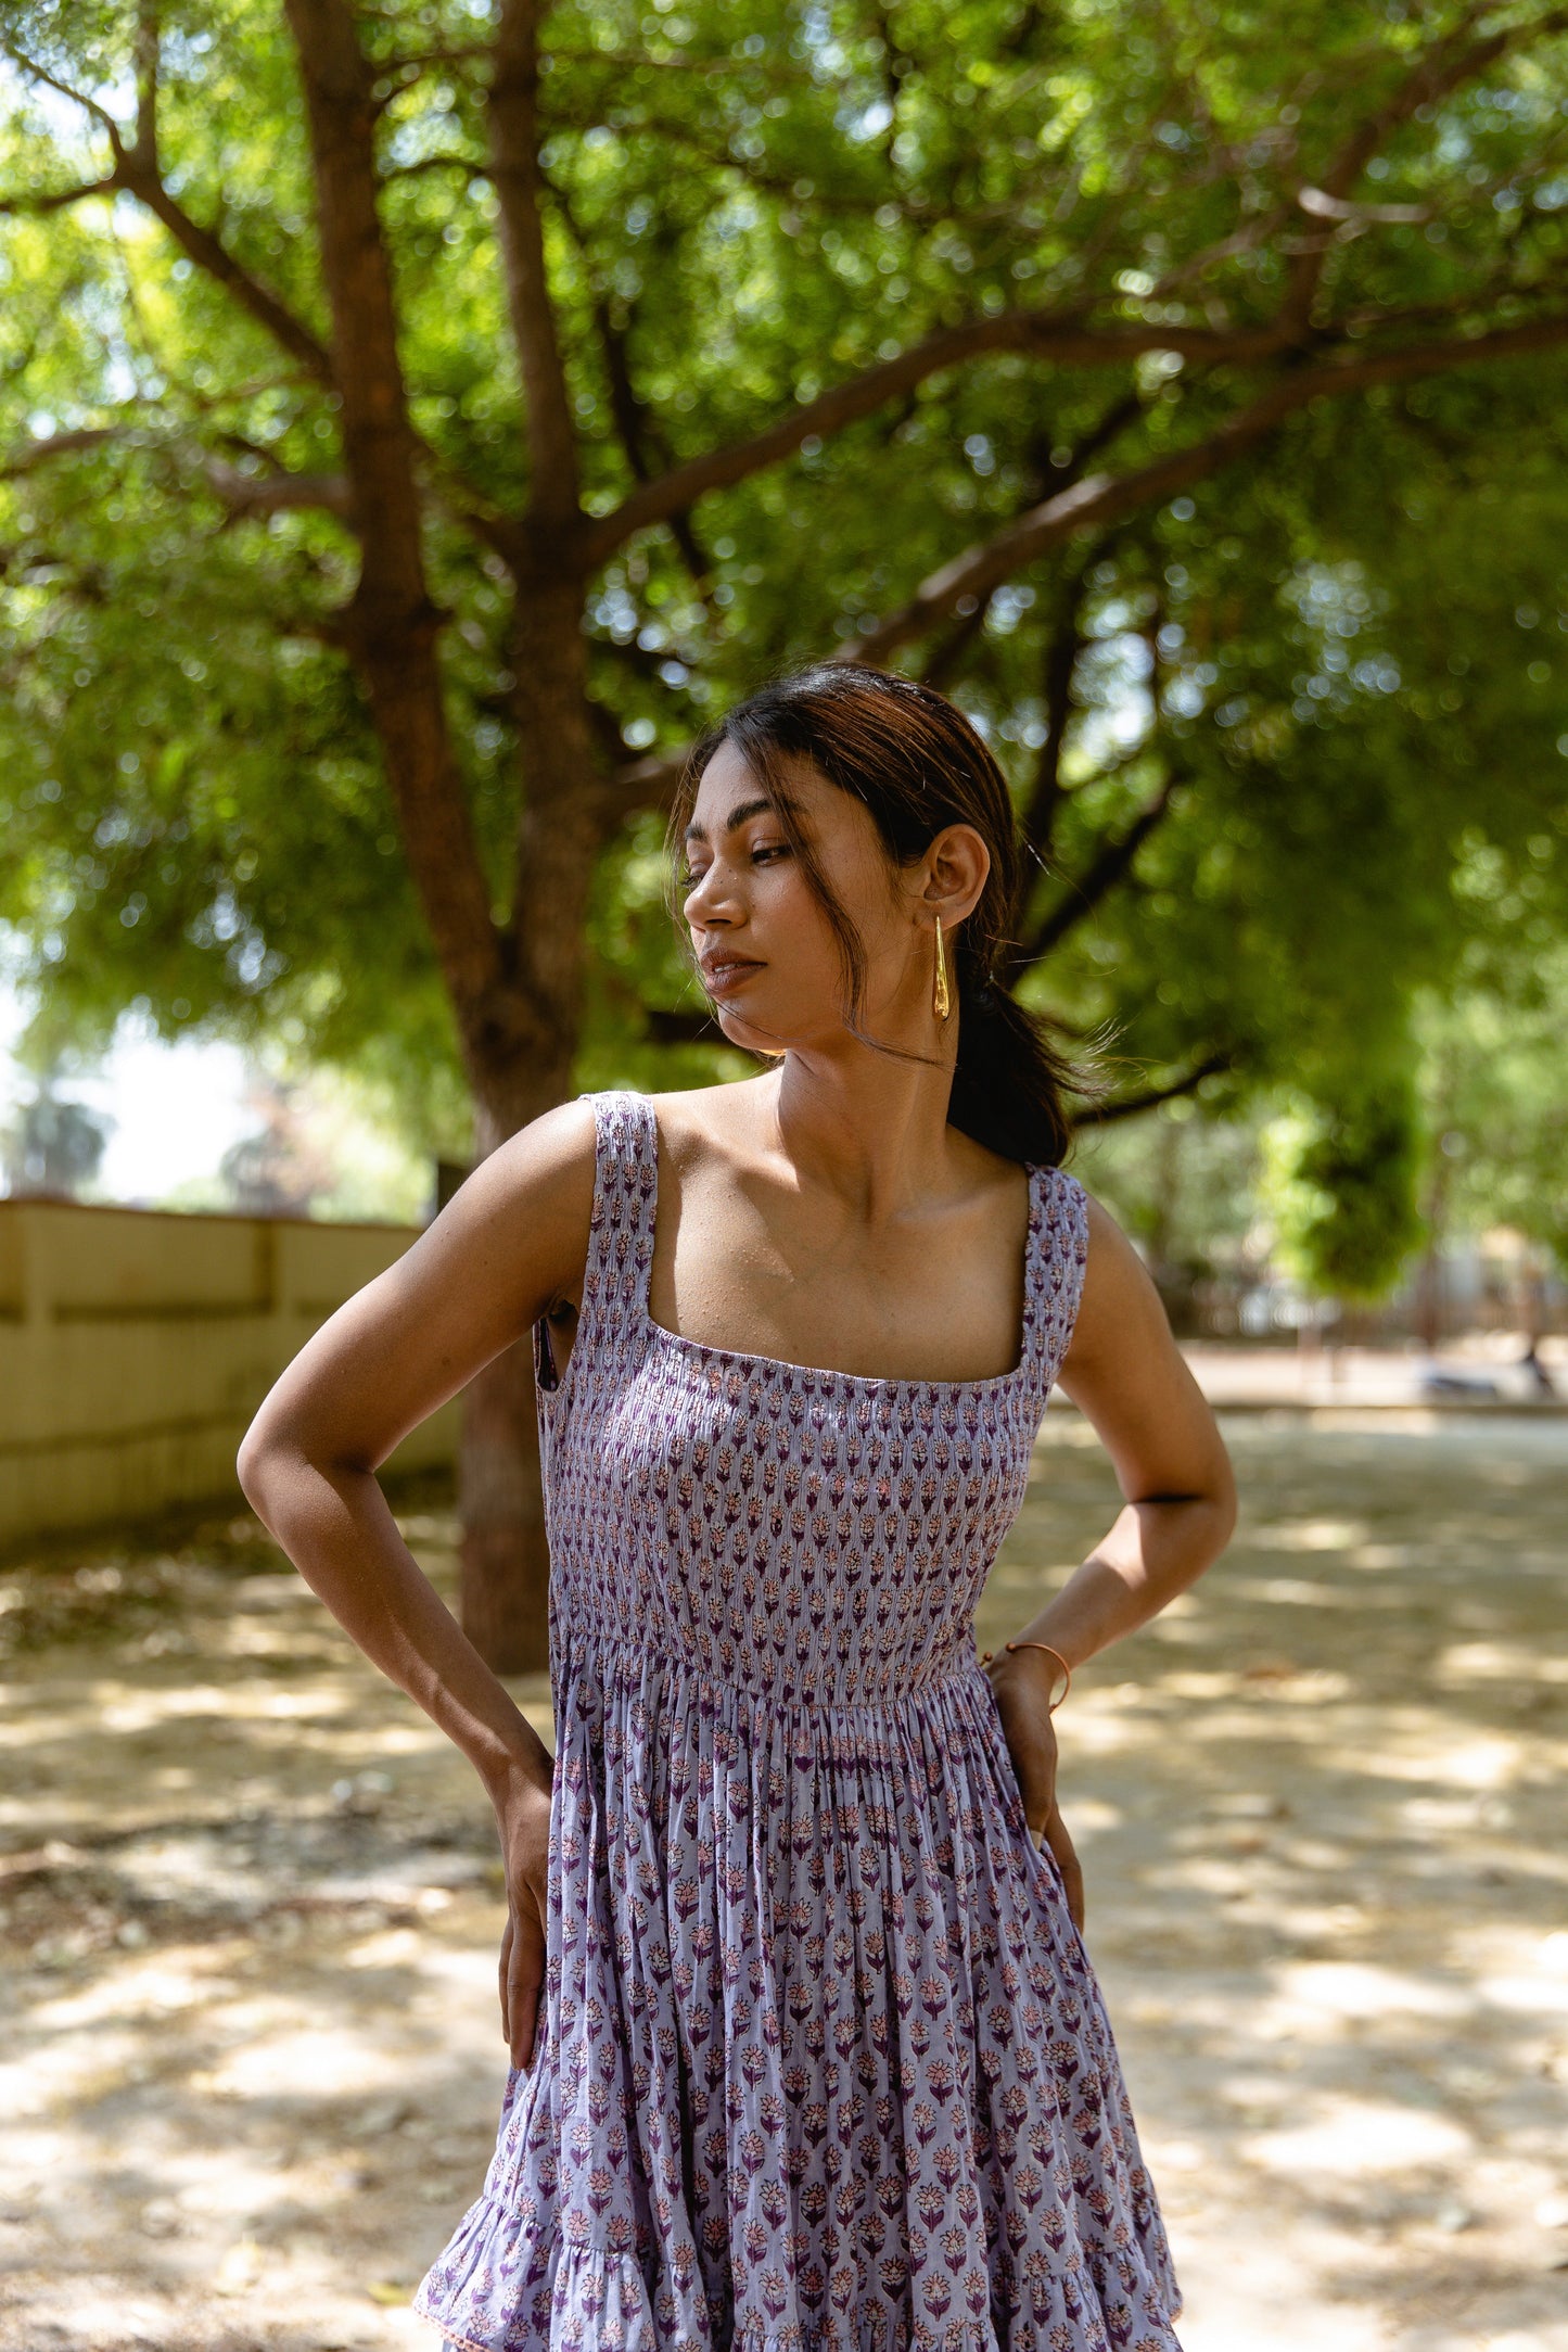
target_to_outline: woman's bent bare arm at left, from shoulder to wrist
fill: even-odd
[[[383,1675],[456,1740],[501,1806],[550,1790],[550,1755],[423,1576],[376,1470],[557,1298],[592,1218],[592,1103],[494,1150],[268,1390],[240,1444],[247,1501]]]

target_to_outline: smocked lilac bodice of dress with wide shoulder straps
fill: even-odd
[[[550,1621],[757,1700],[884,1705],[973,1653],[1086,1258],[1081,1185],[1030,1167],[1023,1350],[985,1381],[865,1378],[710,1348],[649,1312],[658,1129],[595,1098],[583,1308],[536,1327]]]

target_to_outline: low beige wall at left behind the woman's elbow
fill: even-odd
[[[0,1200],[0,1543],[233,1496],[292,1355],[414,1225]],[[458,1402],[386,1463],[449,1463]]]

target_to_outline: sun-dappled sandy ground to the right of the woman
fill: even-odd
[[[1237,1416],[1227,1439],[1229,1555],[1058,1717],[1182,2340],[1559,2352],[1568,1430]],[[1112,1501],[1063,1416],[994,1630]]]

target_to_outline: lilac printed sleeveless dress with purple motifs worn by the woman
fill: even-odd
[[[559,1378],[534,1331],[545,1985],[414,2307],[465,2352],[1180,2352],[1100,1987],[973,1639],[1084,1192],[1027,1171],[1013,1371],[813,1371],[651,1319],[654,1105],[592,1103]]]

